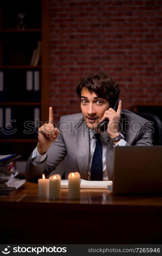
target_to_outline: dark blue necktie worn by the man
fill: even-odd
[[[100,133],[95,134],[96,147],[92,158],[91,180],[103,180],[102,176],[102,144]]]

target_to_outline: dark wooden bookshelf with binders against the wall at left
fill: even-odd
[[[28,159],[38,126],[48,118],[47,2],[0,3],[0,154],[20,153],[21,160]]]

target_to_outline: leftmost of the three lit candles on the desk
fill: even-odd
[[[61,176],[60,174],[49,177],[49,199],[61,198]]]

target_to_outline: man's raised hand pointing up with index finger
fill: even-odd
[[[55,141],[59,136],[59,130],[53,125],[53,110],[50,106],[49,108],[49,121],[48,123],[44,123],[38,129],[38,144],[37,150],[40,155],[44,155],[49,146],[53,141]]]

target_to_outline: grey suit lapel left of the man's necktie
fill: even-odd
[[[81,122],[77,131],[75,131],[76,155],[79,166],[80,176],[82,179],[88,179],[90,135],[86,123]]]

